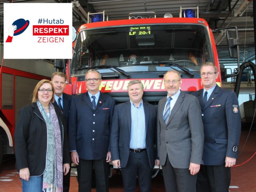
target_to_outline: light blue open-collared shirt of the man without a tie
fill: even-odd
[[[146,148],[146,125],[143,101],[139,107],[136,107],[131,100],[130,103],[132,117],[130,148],[144,149]]]

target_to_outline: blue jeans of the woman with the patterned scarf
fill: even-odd
[[[21,179],[22,192],[42,192],[43,176],[30,176],[28,181]]]

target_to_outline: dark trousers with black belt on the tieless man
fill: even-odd
[[[125,168],[121,167],[124,183],[124,192],[134,192],[138,176],[141,192],[151,191],[151,175],[148,154],[146,151],[135,153],[130,152],[128,162]]]

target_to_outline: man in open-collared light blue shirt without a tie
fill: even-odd
[[[159,166],[156,150],[157,108],[142,101],[143,84],[128,83],[128,102],[115,106],[110,134],[114,166],[121,167],[125,192],[134,192],[138,176],[140,191],[151,191],[154,165]]]

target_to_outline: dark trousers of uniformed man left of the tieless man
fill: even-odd
[[[106,159],[84,160],[79,158],[77,166],[78,192],[91,192],[92,168],[95,171],[96,191],[108,192],[109,164]]]

